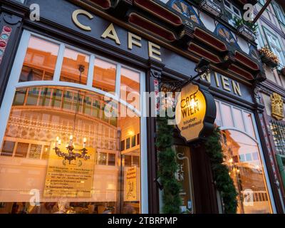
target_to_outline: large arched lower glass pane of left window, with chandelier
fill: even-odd
[[[14,100],[0,156],[7,213],[13,204],[28,204],[33,189],[41,203],[26,213],[140,212],[140,117],[114,121],[104,115],[103,95],[68,87],[16,90]],[[81,156],[70,157],[68,145]]]

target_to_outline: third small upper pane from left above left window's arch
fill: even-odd
[[[115,92],[116,65],[100,58],[95,59],[93,87]]]

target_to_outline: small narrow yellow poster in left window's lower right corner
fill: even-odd
[[[137,167],[128,167],[125,180],[125,201],[137,201]]]

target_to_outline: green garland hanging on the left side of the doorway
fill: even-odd
[[[157,118],[157,139],[158,150],[158,177],[163,187],[162,200],[165,214],[180,213],[182,204],[180,198],[181,185],[175,177],[177,172],[176,153],[172,150],[173,126],[167,124],[167,118]]]

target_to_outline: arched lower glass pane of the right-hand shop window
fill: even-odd
[[[261,160],[254,155],[259,152],[257,142],[236,130],[224,130],[223,133],[227,137],[227,144],[222,142],[225,163],[229,167],[229,173],[239,193],[237,212],[242,214],[270,213],[269,197],[264,196],[264,199],[259,197],[261,202],[253,202],[253,205],[244,202],[243,198],[244,191],[249,190],[252,194],[268,195]]]

